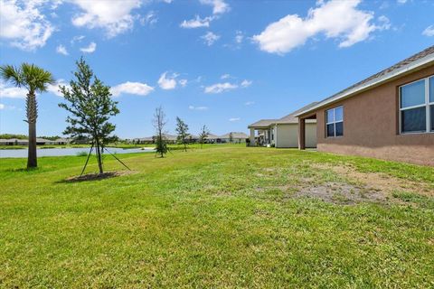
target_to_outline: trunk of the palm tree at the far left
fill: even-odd
[[[38,117],[38,107],[36,95],[29,91],[26,99],[27,123],[29,124],[29,151],[27,155],[27,169],[36,168],[38,159],[36,155],[36,118]]]

